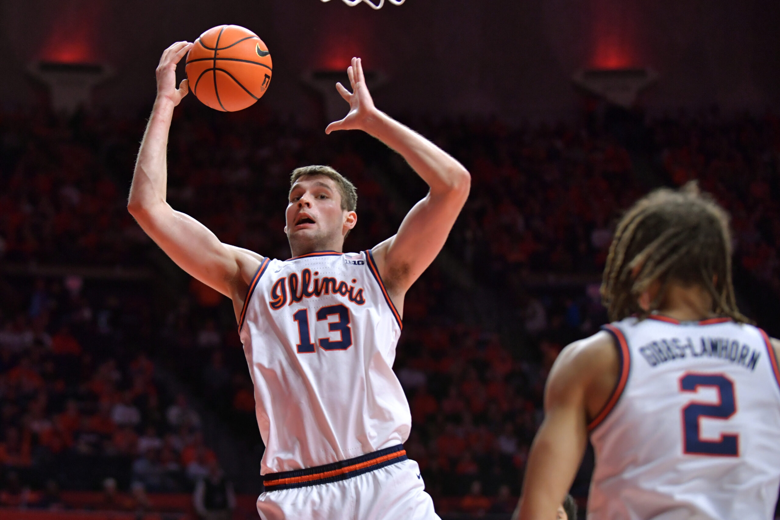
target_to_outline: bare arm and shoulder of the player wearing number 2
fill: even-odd
[[[608,400],[618,363],[605,332],[576,341],[558,356],[544,389],[544,421],[531,445],[516,518],[555,518],[580,467],[588,421]]]

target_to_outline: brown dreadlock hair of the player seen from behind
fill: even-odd
[[[649,314],[638,299],[654,280],[661,290],[651,302],[658,309],[670,281],[700,285],[712,296],[712,311],[750,323],[736,306],[732,284],[729,214],[697,183],[682,189],[657,189],[631,207],[609,247],[601,301],[609,319]]]

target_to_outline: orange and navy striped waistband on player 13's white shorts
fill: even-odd
[[[268,475],[263,476],[263,485],[266,491],[278,491],[328,484],[351,479],[353,476],[363,475],[363,473],[385,468],[385,466],[405,460],[407,460],[406,450],[403,449],[402,444],[399,444],[333,464],[281,473],[268,473]]]

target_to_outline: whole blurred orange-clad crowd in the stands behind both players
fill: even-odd
[[[738,267],[780,293],[774,117],[658,119],[640,125],[639,146],[587,124],[410,124],[470,169],[470,200],[447,249],[500,300],[514,331],[480,323],[463,305],[471,295],[436,264],[407,295],[395,363],[413,415],[406,450],[438,504],[460,497],[452,507],[474,515],[514,507],[548,370],[562,346],[606,320],[596,282],[615,219],[647,189],[698,179],[732,212]],[[80,467],[126,468],[119,486],[149,491],[188,490],[218,472],[198,414],[166,391],[160,368],[232,434],[259,443],[232,307],[165,264],[127,214],[143,129],[142,117],[98,112],[0,115],[0,267],[166,273],[132,287],[73,276],[0,282],[0,463],[37,490],[47,489],[44,475],[61,486],[103,485]],[[402,203],[425,193],[366,136],[326,137],[261,104],[229,115],[190,105],[173,123],[168,200],[223,242],[287,258],[289,172],[305,164],[330,164],[358,187],[349,250],[392,235]],[[387,179],[399,182],[388,190]],[[585,281],[527,284],[541,274]]]

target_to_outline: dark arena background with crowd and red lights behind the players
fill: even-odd
[[[730,211],[739,305],[780,334],[778,2],[4,0],[0,518],[194,520],[217,466],[232,518],[258,518],[264,447],[231,303],[126,209],[161,52],[222,23],[257,33],[275,74],[246,110],[176,108],[168,200],[223,242],[288,258],[301,165],[355,182],[348,251],[424,196],[378,141],[324,134],[353,56],[378,108],[472,175],[395,360],[441,518],[511,515],[548,370],[607,320],[615,222],[649,190],[698,179]],[[588,451],[581,512],[592,469]]]

